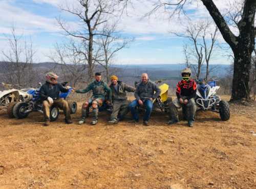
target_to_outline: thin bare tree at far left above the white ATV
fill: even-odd
[[[30,86],[36,77],[33,70],[35,50],[30,39],[28,42],[24,35],[17,35],[15,26],[11,29],[11,37],[6,37],[9,46],[2,50],[6,61],[5,77],[10,84]]]

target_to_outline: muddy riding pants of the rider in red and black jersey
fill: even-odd
[[[184,98],[185,99],[185,98]],[[181,104],[179,99],[176,98],[174,101],[169,103],[169,117],[171,120],[179,120],[178,109],[186,108],[186,119],[187,121],[195,121],[195,114],[197,111],[197,105],[194,98],[188,100],[187,104]]]

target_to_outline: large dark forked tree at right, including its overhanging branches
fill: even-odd
[[[130,0],[126,0],[130,1]],[[158,11],[161,7],[175,6],[175,9],[165,9],[165,11],[171,10],[171,16],[174,14],[184,13],[184,5],[191,3],[193,0],[166,0],[158,1],[151,13]],[[255,22],[255,0],[244,0],[243,8],[241,9],[241,17],[236,20],[239,35],[234,34],[229,28],[229,22],[225,20],[225,17],[220,13],[219,9],[215,5],[213,0],[200,0],[205,8],[208,10],[212,19],[214,19],[220,33],[224,40],[228,43],[234,54],[234,71],[232,82],[232,100],[239,100],[242,98],[250,98],[250,70],[251,70],[251,57],[252,51],[255,45],[256,28]]]

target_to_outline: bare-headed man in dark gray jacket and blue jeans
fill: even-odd
[[[139,121],[137,107],[139,105],[144,105],[146,112],[143,117],[143,125],[148,126],[148,120],[150,119],[153,110],[153,101],[160,95],[160,93],[161,90],[159,87],[148,79],[146,73],[142,73],[141,82],[134,93],[136,100],[132,101],[130,104],[130,110],[135,122]]]

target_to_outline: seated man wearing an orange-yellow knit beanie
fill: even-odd
[[[129,112],[129,103],[126,91],[134,92],[135,88],[130,87],[118,80],[116,75],[111,76],[110,89],[112,91],[113,112],[111,114],[110,124],[116,124]]]

